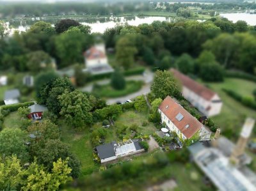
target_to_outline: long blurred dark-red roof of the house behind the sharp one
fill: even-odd
[[[180,80],[180,82],[182,83],[182,86],[185,86],[186,88],[195,92],[196,95],[201,96],[205,100],[211,100],[212,97],[216,95],[216,93],[211,91],[211,89],[208,89],[205,86],[202,86],[202,84],[199,84],[195,80],[189,78],[187,75],[180,73],[178,70],[175,70],[172,68],[170,69],[170,72],[173,73],[175,79]]]

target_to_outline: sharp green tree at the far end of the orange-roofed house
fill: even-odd
[[[180,96],[179,87],[172,74],[166,70],[157,70],[151,85],[151,91],[156,98],[164,99],[166,96]]]

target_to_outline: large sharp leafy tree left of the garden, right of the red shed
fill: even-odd
[[[83,127],[92,123],[92,114],[90,113],[92,106],[84,93],[79,90],[65,91],[58,96],[58,100],[61,106],[60,114],[65,117],[67,123],[75,127]]]

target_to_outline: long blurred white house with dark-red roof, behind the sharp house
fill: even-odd
[[[170,71],[173,73],[175,79],[179,80],[182,84],[182,95],[194,107],[208,117],[220,114],[222,102],[217,93],[202,86],[202,84],[180,73],[178,70],[172,68]]]

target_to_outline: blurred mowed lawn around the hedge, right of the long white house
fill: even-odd
[[[221,109],[221,114],[214,116],[215,123],[220,125],[222,129],[224,128],[236,128],[240,132],[244,119],[246,117],[252,117],[256,119],[256,111],[245,107],[241,103],[237,102],[221,89],[232,89],[240,95],[252,96],[253,89],[256,88],[256,83],[243,79],[227,78],[221,83],[204,83],[209,86],[213,91],[218,93],[223,101],[223,107]],[[254,134],[255,135],[255,134]]]

